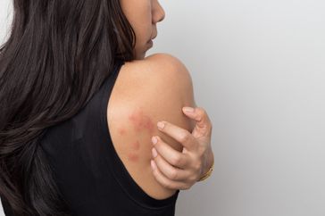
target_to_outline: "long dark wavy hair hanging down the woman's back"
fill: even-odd
[[[75,115],[118,61],[134,60],[135,32],[120,0],[13,0],[0,47],[0,195],[13,215],[71,215],[39,147]]]

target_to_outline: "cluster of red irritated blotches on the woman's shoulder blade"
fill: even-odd
[[[136,133],[147,132],[149,135],[154,133],[154,122],[151,118],[145,115],[142,111],[133,112],[129,115],[129,120],[132,122],[133,129]],[[119,129],[121,136],[126,135],[126,129]],[[138,162],[139,157],[137,151],[140,149],[138,140],[129,145],[128,160],[130,162]]]

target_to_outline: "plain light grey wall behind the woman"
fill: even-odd
[[[213,124],[215,169],[180,191],[176,215],[324,216],[325,2],[161,4],[149,54],[187,65]]]

